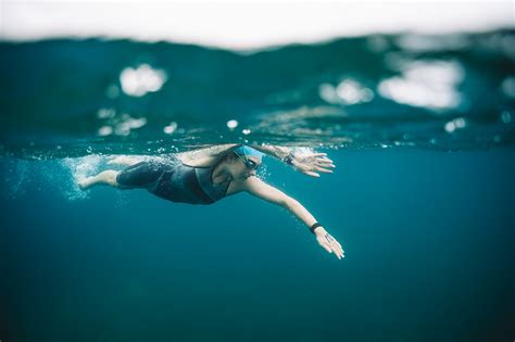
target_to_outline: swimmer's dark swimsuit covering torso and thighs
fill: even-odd
[[[173,202],[211,204],[226,195],[230,183],[229,180],[213,185],[211,178],[215,166],[188,166],[172,156],[131,165],[116,176],[116,181],[123,188],[145,188]]]

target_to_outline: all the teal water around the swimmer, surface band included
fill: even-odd
[[[513,33],[417,39],[0,43],[0,340],[512,340]],[[113,154],[244,141],[328,153],[334,174],[266,156],[260,177],[346,258],[249,194],[74,183]]]

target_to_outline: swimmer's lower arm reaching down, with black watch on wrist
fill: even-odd
[[[247,178],[242,183],[242,189],[261,200],[282,206],[302,220],[307,227],[311,227],[316,223],[313,215],[311,215],[310,212],[299,203],[299,201],[290,198],[279,189],[267,185],[255,176]],[[335,253],[339,259],[343,257],[341,244],[331,237],[324,227],[321,226],[315,228],[314,232],[316,241],[321,246],[329,253]]]

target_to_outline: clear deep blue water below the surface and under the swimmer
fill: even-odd
[[[515,150],[327,152],[332,175],[265,178],[341,261],[249,194],[77,198],[62,162],[3,160],[2,341],[512,339]]]

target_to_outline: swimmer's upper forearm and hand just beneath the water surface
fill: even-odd
[[[328,169],[328,167],[336,167],[332,161],[327,157],[327,153],[313,153],[310,151],[294,152],[291,148],[272,144],[251,145],[251,148],[275,156],[286,164],[293,166],[304,175],[312,177],[321,177],[317,172],[332,174],[332,170]]]

